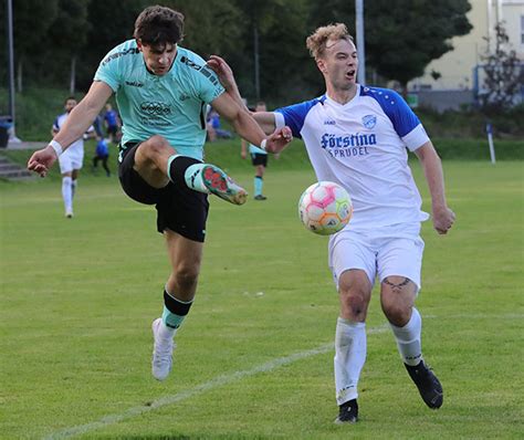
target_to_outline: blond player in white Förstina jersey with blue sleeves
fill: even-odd
[[[318,28],[307,48],[322,72],[326,93],[315,99],[254,113],[266,132],[287,125],[303,138],[318,180],[344,186],[354,202],[348,226],[329,239],[328,261],[339,295],[335,334],[336,423],[358,419],[357,385],[366,359],[366,315],[378,277],[380,304],[400,357],[423,401],[442,406],[440,381],[422,359],[421,316],[415,300],[421,287],[423,241],[421,198],[407,149],[423,168],[431,193],[432,221],[446,234],[454,221],[448,208],[440,158],[418,117],[396,92],[356,83],[357,52],[344,24]],[[229,66],[210,64],[240,103]]]

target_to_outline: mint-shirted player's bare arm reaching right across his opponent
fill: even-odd
[[[253,116],[245,107],[241,107],[229,93],[222,93],[211,102],[213,108],[220,116],[227,118],[240,137],[251,144],[261,146],[265,139],[265,149],[269,153],[279,153],[293,139],[290,127],[282,127],[272,133],[269,137],[256,124]]]

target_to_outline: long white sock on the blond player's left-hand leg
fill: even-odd
[[[342,405],[358,397],[358,379],[366,362],[365,323],[337,319],[334,362],[336,400]]]

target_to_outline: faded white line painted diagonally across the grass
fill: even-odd
[[[382,333],[386,332],[389,328],[389,325],[382,325],[380,327],[374,327],[369,328],[367,331],[368,334],[374,334],[374,333]],[[259,373],[268,373],[271,371],[275,368],[282,367],[284,365],[293,364],[297,360],[301,359],[306,359],[312,356],[316,355],[322,355],[324,353],[327,353],[329,350],[333,350],[334,346],[333,343],[329,344],[323,344],[316,348],[310,349],[307,352],[300,352],[295,353],[290,356],[285,357],[280,357],[273,360],[270,360],[269,363],[259,365],[258,367],[251,368],[251,369],[244,369],[242,371],[234,371],[229,375],[222,375],[218,376],[214,379],[211,379],[207,383],[203,383],[201,385],[196,386],[195,388],[188,389],[186,391],[178,392],[172,396],[166,396],[161,397],[160,399],[157,399],[153,401],[150,405],[142,405],[137,407],[133,407],[127,409],[126,411],[118,413],[118,415],[111,415],[111,416],[105,416],[98,421],[93,421],[91,423],[85,423],[85,425],[78,425],[76,427],[71,427],[71,428],[65,428],[63,430],[56,431],[51,433],[48,437],[44,437],[46,440],[51,439],[65,439],[69,437],[74,437],[74,436],[80,436],[90,431],[93,431],[95,429],[101,429],[105,428],[109,425],[118,423],[122,420],[129,419],[136,416],[140,416],[143,413],[153,411],[158,408],[166,407],[168,405],[177,404],[181,400],[189,399],[190,397],[200,395],[202,392],[209,391],[211,389],[222,387],[224,385],[238,381],[243,379],[244,377],[250,377],[258,375]]]

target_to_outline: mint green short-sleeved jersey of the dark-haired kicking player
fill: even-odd
[[[123,146],[160,135],[178,154],[202,159],[206,107],[224,90],[199,55],[177,46],[170,71],[157,76],[146,69],[136,41],[128,40],[104,57],[94,81],[116,93]]]

